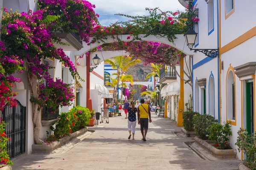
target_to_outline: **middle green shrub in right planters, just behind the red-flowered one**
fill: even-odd
[[[196,135],[198,135],[201,139],[207,139],[207,127],[209,125],[212,125],[214,122],[218,122],[218,120],[215,120],[214,117],[209,116],[207,114],[196,114],[193,117],[194,121],[194,129]]]

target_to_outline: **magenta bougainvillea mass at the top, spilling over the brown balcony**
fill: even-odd
[[[89,42],[99,17],[95,14],[95,5],[87,0],[39,0],[39,6],[46,11],[45,16],[59,15],[65,23],[62,30],[55,31],[78,33],[81,40]]]

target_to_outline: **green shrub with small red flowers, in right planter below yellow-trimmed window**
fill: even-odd
[[[230,122],[220,125],[215,122],[207,127],[209,139],[216,143],[218,149],[231,149],[229,136],[232,135]]]

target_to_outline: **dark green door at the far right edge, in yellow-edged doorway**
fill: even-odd
[[[249,134],[254,132],[253,80],[246,81],[246,128]]]

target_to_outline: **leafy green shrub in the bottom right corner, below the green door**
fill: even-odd
[[[249,167],[251,170],[256,170],[256,132],[248,134],[246,129],[240,128],[237,132],[237,142],[239,152],[243,150],[246,157],[244,157],[243,164]]]

